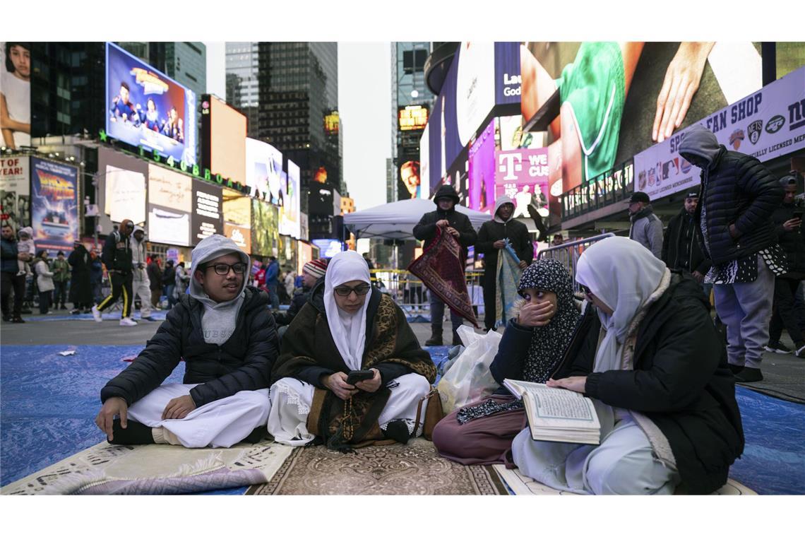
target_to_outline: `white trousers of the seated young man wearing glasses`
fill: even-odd
[[[207,403],[182,419],[162,419],[162,413],[171,399],[190,394],[197,384],[165,384],[147,394],[129,407],[128,419],[170,434],[185,448],[229,448],[237,444],[255,428],[265,426],[268,419],[268,389],[243,390],[213,403]]]

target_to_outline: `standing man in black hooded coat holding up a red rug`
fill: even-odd
[[[436,191],[436,195],[433,196],[436,211],[423,214],[419,224],[414,226],[414,237],[425,242],[426,250],[436,238],[436,228],[439,227],[456,238],[464,254],[462,257],[467,258],[467,247],[475,244],[477,234],[469,218],[456,211],[458,202],[458,194],[449,184],[443,184]],[[429,294],[431,295],[431,339],[425,341],[425,345],[442,345],[444,301],[432,291]],[[457,331],[464,321],[452,310],[450,311],[450,321],[452,323],[452,344],[461,345]]]

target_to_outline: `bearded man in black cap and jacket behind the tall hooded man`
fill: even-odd
[[[684,207],[668,222],[663,237],[663,262],[672,271],[690,272],[702,284],[704,294],[710,296],[712,283],[704,283],[704,275],[707,275],[712,263],[702,253],[696,239],[696,222],[693,220],[698,204],[699,192],[687,192]]]

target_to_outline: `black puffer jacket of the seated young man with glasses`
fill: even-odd
[[[235,331],[223,345],[204,341],[204,305],[190,295],[182,295],[146,348],[103,387],[101,401],[122,397],[131,405],[162,384],[182,358],[182,382],[199,383],[190,390],[196,407],[241,390],[270,386],[270,371],[279,353],[274,317],[268,310],[265,292],[254,287],[246,287],[245,292]]]

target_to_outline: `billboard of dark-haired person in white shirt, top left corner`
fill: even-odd
[[[31,145],[31,43],[0,41],[0,114],[2,145]]]

